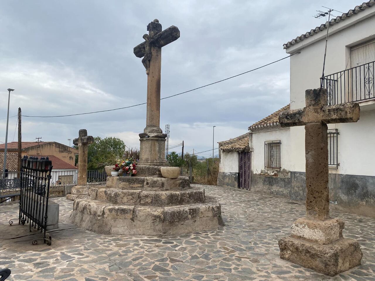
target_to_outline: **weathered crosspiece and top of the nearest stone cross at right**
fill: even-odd
[[[327,105],[327,91],[324,88],[306,90],[306,107],[281,112],[282,127],[304,126],[309,123],[350,123],[359,120],[359,104],[355,102]]]

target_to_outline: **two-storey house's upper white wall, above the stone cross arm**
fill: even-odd
[[[370,9],[368,9],[370,10]],[[375,11],[375,7],[371,10]],[[373,13],[374,13],[373,11]],[[356,16],[365,15],[368,11],[361,12]],[[353,16],[354,19],[354,16]],[[350,20],[350,19],[349,19]],[[344,24],[348,19],[342,21]],[[375,37],[375,15],[364,19],[348,28],[331,34],[327,44],[325,75],[350,68],[350,47],[374,39]],[[339,24],[330,27],[331,33],[335,32]],[[319,34],[319,35],[318,35]],[[305,48],[298,49],[306,45],[308,39],[302,40],[293,47],[287,49],[288,53],[296,51],[290,57],[290,107],[291,109],[303,108],[305,106],[305,90],[320,87],[320,77],[323,70],[324,48],[326,44],[326,32],[321,31],[309,37],[313,40],[322,37],[318,42],[312,43]]]

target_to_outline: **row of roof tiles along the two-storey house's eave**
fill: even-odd
[[[353,16],[356,13],[362,12],[363,10],[372,7],[375,5],[375,0],[367,1],[362,3],[362,5],[354,7],[354,9],[349,10],[347,13],[343,13],[341,16],[337,16],[336,18],[333,18],[330,20],[329,24],[333,25],[340,21],[343,21],[344,19]],[[305,34],[302,34],[301,36],[298,36],[296,39],[293,39],[283,45],[284,49],[289,48],[290,46],[300,42],[301,40],[313,36],[315,33],[318,33],[320,31],[323,31],[328,26],[328,21],[325,24],[321,24],[320,26],[315,27],[314,29],[306,32]]]

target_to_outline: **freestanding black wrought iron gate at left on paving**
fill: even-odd
[[[48,157],[27,157],[22,158],[20,172],[20,213],[18,224],[28,223],[30,227],[40,230],[43,233],[42,239],[34,239],[32,244],[43,240],[51,245],[51,236],[46,237],[47,212],[49,197],[49,182],[51,180],[52,162]],[[10,220],[9,224],[12,225]]]

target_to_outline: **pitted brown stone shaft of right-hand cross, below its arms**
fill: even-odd
[[[329,218],[327,124],[306,124],[305,146],[306,215],[324,220]]]

